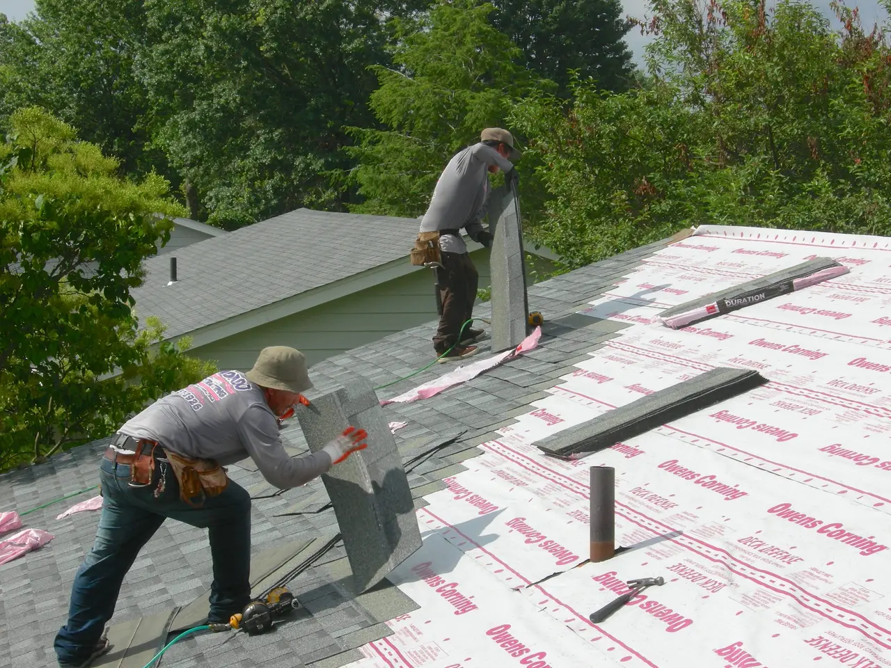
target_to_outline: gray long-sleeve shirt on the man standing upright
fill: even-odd
[[[470,239],[477,240],[483,229],[480,221],[489,196],[488,167],[491,165],[497,165],[505,173],[513,168],[510,160],[485,143],[475,143],[449,160],[421,220],[421,232],[463,227]],[[467,244],[460,235],[454,234],[440,236],[439,248],[446,253],[467,252]]]

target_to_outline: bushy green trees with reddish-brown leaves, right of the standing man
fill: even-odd
[[[699,224],[891,232],[891,49],[839,7],[655,0],[650,78],[515,110],[552,199],[537,239],[582,265]]]

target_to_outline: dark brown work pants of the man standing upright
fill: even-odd
[[[439,297],[443,313],[439,329],[433,337],[437,354],[443,354],[458,343],[458,334],[464,322],[473,315],[473,302],[477,298],[479,274],[467,253],[442,253],[442,266],[437,267]],[[472,324],[472,323],[471,323]],[[466,335],[470,325],[464,328]]]

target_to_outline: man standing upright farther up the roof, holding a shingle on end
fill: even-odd
[[[506,180],[517,183],[519,176],[513,163],[519,156],[510,132],[501,127],[486,127],[479,134],[478,143],[449,160],[421,220],[419,240],[425,233],[438,232],[441,266],[437,268],[437,285],[442,314],[433,348],[440,355],[439,362],[460,360],[477,352],[477,346],[472,344],[483,335],[483,330],[468,326],[461,333],[462,326],[473,315],[479,280],[461,228],[470,239],[491,247],[492,234],[483,229],[481,222],[491,190],[488,175],[500,169]]]

